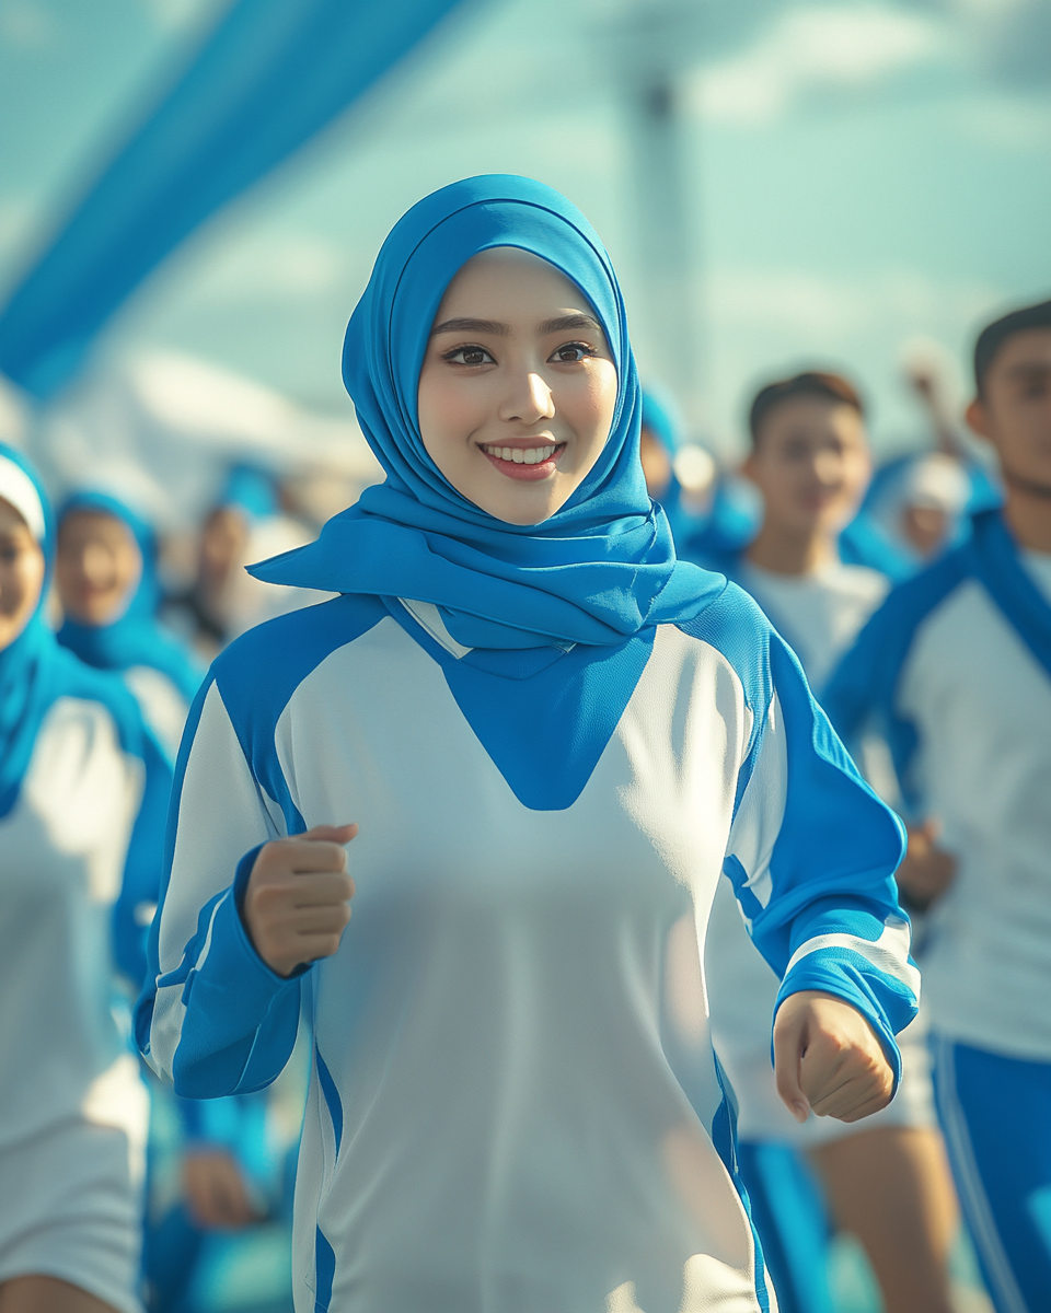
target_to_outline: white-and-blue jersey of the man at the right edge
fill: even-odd
[[[899,587],[826,689],[850,741],[875,718],[906,804],[942,825],[956,877],[930,914],[931,1027],[1051,1061],[1051,557],[997,512]]]

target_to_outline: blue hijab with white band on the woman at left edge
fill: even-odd
[[[142,756],[145,746],[138,706],[127,689],[59,647],[47,628],[45,607],[55,542],[51,507],[29,461],[3,442],[0,496],[21,513],[46,562],[35,611],[18,637],[0,650],[0,817],[5,817],[18,800],[41,723],[59,697],[101,702],[113,717],[123,750]]]

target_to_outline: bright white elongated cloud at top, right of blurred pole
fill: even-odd
[[[811,88],[872,85],[935,58],[943,43],[924,14],[878,4],[794,8],[750,50],[702,70],[691,98],[705,118],[763,123]]]

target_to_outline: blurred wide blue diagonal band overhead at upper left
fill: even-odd
[[[235,0],[0,312],[0,373],[38,398],[142,280],[347,109],[460,0]]]

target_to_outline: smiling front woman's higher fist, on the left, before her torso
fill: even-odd
[[[252,947],[279,976],[331,957],[351,919],[347,850],[356,825],[318,825],[259,850],[242,920]]]

